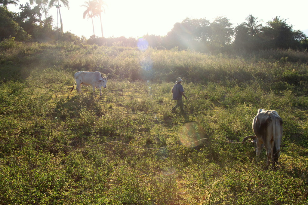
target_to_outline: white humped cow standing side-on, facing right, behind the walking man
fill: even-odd
[[[87,71],[78,71],[74,74],[74,85],[71,89],[73,91],[74,86],[75,86],[75,81],[76,81],[76,90],[77,92],[81,92],[81,84],[84,86],[89,86],[91,85],[93,88],[93,94],[95,94],[95,88],[99,88],[99,95],[102,96],[102,87],[106,88],[107,87],[107,78],[103,76],[98,71],[95,72],[87,72]]]

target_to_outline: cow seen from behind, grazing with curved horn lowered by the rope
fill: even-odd
[[[267,162],[278,163],[280,156],[280,144],[282,139],[282,119],[274,110],[259,109],[257,115],[253,119],[252,129],[256,136],[247,136],[243,142],[252,138],[252,143],[255,144],[256,154],[260,155],[263,145],[266,150]]]

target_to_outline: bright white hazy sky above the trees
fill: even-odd
[[[81,7],[86,0],[69,0],[70,9],[62,6],[60,8],[63,29],[78,36],[89,38],[93,35],[91,19],[83,19],[85,7]],[[20,0],[25,4],[29,0]],[[252,14],[259,20],[266,22],[275,16],[287,19],[288,25],[293,25],[294,30],[308,29],[306,19],[308,1],[286,1],[286,0],[105,0],[105,14],[102,14],[104,37],[126,38],[142,37],[145,34],[167,35],[176,22],[182,22],[188,18],[206,18],[212,21],[217,16],[224,16],[237,26]],[[61,3],[60,3],[61,4]],[[62,4],[63,5],[63,4]],[[34,6],[34,5],[33,5]],[[9,6],[14,12],[18,7]],[[32,7],[32,6],[31,6]],[[57,10],[52,7],[49,13],[57,25]],[[60,22],[59,22],[60,26]],[[100,20],[94,18],[95,34],[101,36]]]

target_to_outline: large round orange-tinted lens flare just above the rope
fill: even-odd
[[[204,138],[204,130],[197,123],[186,123],[180,128],[178,135],[182,144],[191,143],[185,145],[186,147],[196,147],[202,143],[202,140],[199,142],[195,141]]]

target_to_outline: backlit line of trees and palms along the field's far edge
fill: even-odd
[[[14,37],[19,41],[70,41],[96,45],[118,45],[135,47],[135,38],[104,38],[101,13],[105,11],[103,0],[89,0],[84,2],[83,18],[91,18],[93,35],[86,39],[70,32],[63,33],[63,23],[60,13],[61,4],[69,8],[68,0],[30,0],[26,5],[20,5],[20,12],[14,13],[7,9],[8,4],[15,4],[19,0],[0,0],[0,41]],[[36,6],[31,8],[34,2]],[[56,27],[52,26],[53,18],[48,14],[52,6],[57,8],[59,20]],[[45,18],[42,20],[42,16]],[[102,37],[95,35],[93,18],[99,17]],[[58,18],[58,17],[57,17]],[[264,50],[264,49],[298,49],[307,50],[308,38],[300,30],[293,30],[286,19],[276,16],[262,25],[261,20],[249,14],[245,21],[233,26],[226,17],[217,17],[212,22],[206,18],[186,18],[174,24],[165,36],[146,34],[143,39],[148,45],[157,49],[196,50],[199,52],[224,52],[235,50]]]

